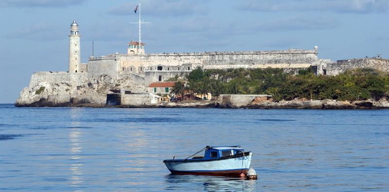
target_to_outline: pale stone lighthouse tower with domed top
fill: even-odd
[[[69,73],[80,72],[80,50],[80,35],[78,34],[78,24],[76,21],[73,21],[73,23],[70,25],[69,34]]]

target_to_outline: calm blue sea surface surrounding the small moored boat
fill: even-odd
[[[172,175],[206,145],[253,152],[258,180]],[[389,191],[389,110],[0,105],[0,191]]]

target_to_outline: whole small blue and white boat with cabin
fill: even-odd
[[[241,176],[247,175],[252,152],[241,146],[206,146],[184,160],[163,160],[173,174]],[[193,157],[205,150],[204,156]],[[189,159],[193,157],[192,159]]]

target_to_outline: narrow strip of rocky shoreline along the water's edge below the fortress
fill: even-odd
[[[182,102],[164,102],[160,104],[151,105],[119,105],[106,106],[102,104],[93,104],[88,100],[81,100],[77,103],[53,103],[46,99],[31,104],[17,105],[17,107],[116,107],[116,108],[224,108],[224,109],[389,109],[389,102],[387,99],[380,99],[379,101],[336,101],[336,100],[304,100],[295,99],[292,101],[252,101],[246,105],[236,106],[232,103],[220,103],[219,101],[182,101]]]

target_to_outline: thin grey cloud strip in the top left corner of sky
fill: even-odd
[[[0,0],[0,7],[67,7],[87,0]]]

